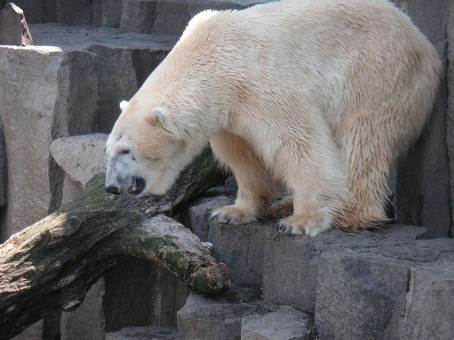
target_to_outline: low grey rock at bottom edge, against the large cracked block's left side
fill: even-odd
[[[312,317],[289,306],[242,319],[241,340],[311,340],[313,334]]]

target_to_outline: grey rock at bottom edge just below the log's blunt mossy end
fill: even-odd
[[[256,309],[235,298],[211,300],[191,293],[178,312],[178,339],[240,340],[241,319]]]

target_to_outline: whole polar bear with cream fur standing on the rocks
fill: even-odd
[[[386,0],[282,0],[193,17],[123,102],[106,189],[164,194],[210,142],[238,184],[222,223],[279,231],[386,221],[390,168],[432,110],[442,64]],[[272,204],[281,188],[288,197]]]

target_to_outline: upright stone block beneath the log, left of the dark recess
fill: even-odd
[[[104,279],[101,278],[89,289],[84,302],[78,309],[61,313],[61,339],[98,340],[104,339]]]

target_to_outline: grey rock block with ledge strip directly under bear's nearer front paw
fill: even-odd
[[[331,230],[319,237],[279,236],[272,225],[265,228],[263,295],[276,304],[290,304],[302,311],[314,313],[316,281],[321,253],[353,249],[375,249],[388,244],[413,242],[427,228],[388,226],[376,232],[343,232]]]

